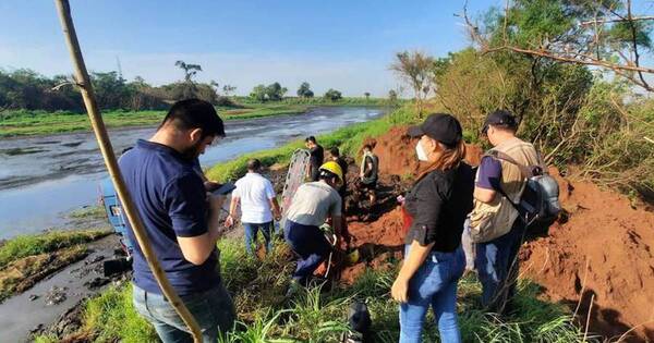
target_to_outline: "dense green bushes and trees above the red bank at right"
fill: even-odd
[[[620,15],[626,5],[614,0],[511,1],[506,11],[492,9],[482,15],[479,27],[477,23],[470,27],[479,48],[445,58],[405,51],[396,56],[391,69],[414,91],[419,113],[427,108],[455,114],[473,134],[473,142],[488,112],[507,109],[520,121],[518,135],[533,142],[547,164],[652,200],[654,99],[643,97],[634,86],[653,89],[638,73],[614,71],[620,71],[615,61],[638,49],[651,51],[654,26],[602,24],[601,34],[593,36],[596,25],[578,25],[596,15]],[[628,32],[625,25],[635,26]],[[592,70],[576,62],[579,56],[573,63],[561,63],[553,52],[561,46],[564,57],[593,51],[614,68]],[[530,53],[534,47],[544,50]]]

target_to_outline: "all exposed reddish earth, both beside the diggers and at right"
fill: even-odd
[[[407,127],[368,143],[379,157],[382,205],[370,209],[365,199],[347,201],[348,229],[361,261],[343,269],[344,283],[366,268],[387,268],[401,258],[404,234],[395,197],[421,170]],[[477,166],[481,155],[479,147],[468,146],[470,164]],[[351,167],[349,179],[356,173]],[[547,236],[524,243],[521,277],[542,285],[545,298],[569,305],[580,326],[605,340],[654,341],[654,212],[590,182],[565,180],[556,169],[550,173],[559,182],[565,211]],[[356,198],[355,187],[349,191]]]

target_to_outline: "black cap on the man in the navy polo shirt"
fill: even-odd
[[[171,124],[178,130],[201,128],[202,137],[225,136],[225,125],[222,120],[216,113],[214,106],[199,99],[186,99],[175,102],[159,128],[166,124]]]

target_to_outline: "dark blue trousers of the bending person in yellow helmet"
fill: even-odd
[[[331,245],[318,226],[302,225],[287,220],[283,236],[291,249],[298,254],[298,267],[293,279],[306,284],[313,272],[331,250]]]

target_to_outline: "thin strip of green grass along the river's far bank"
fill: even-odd
[[[293,101],[247,102],[239,108],[217,108],[223,120],[256,119],[272,115],[305,112],[312,106],[380,106],[380,102],[358,98],[342,101]],[[107,127],[156,125],[161,122],[165,111],[102,111]],[[0,137],[49,135],[77,131],[89,131],[90,123],[84,113],[66,111],[46,112],[16,110],[0,115]]]

